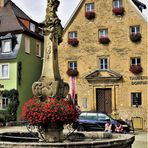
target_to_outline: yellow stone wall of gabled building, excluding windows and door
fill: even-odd
[[[85,17],[85,5],[94,3],[95,18]],[[65,27],[63,43],[59,49],[59,65],[62,78],[69,82],[66,74],[68,61],[77,61],[79,75],[75,77],[75,93],[82,111],[100,111],[97,90],[110,90],[111,112],[123,119],[140,119],[137,128],[147,128],[147,22],[142,12],[131,0],[123,0],[124,14],[112,12],[112,0],[84,0]],[[130,40],[130,27],[140,26],[141,41]],[[99,30],[108,29],[108,44],[98,41]],[[77,46],[68,44],[68,33],[77,32]],[[131,58],[141,59],[143,72],[133,74],[129,69]],[[100,70],[100,58],[106,58],[108,68]],[[95,74],[95,76],[94,76]],[[119,78],[118,76],[121,76]],[[118,78],[117,78],[118,77]],[[131,94],[141,93],[141,105],[131,104]],[[85,101],[84,101],[85,100]],[[103,104],[104,105],[104,104]],[[99,106],[99,107],[98,107]],[[106,111],[106,110],[104,110]]]

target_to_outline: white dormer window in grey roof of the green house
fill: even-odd
[[[12,41],[2,40],[2,53],[10,53],[12,51]]]

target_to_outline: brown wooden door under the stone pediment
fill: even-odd
[[[96,89],[96,110],[97,112],[112,112],[111,88]]]

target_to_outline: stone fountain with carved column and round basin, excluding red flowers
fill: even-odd
[[[58,68],[58,45],[62,42],[62,25],[56,11],[59,6],[58,0],[48,0],[46,9],[46,19],[44,22],[44,61],[40,79],[32,85],[34,96],[37,96],[42,103],[35,101],[33,103],[39,105],[38,110],[44,109],[44,102],[50,103],[51,100],[60,101],[61,98],[66,98],[69,92],[69,86],[63,82],[60,77]],[[65,106],[64,106],[65,107]],[[40,118],[40,117],[39,117]],[[36,121],[39,120],[37,118]],[[52,125],[52,122],[50,122]],[[57,124],[57,125],[56,125]],[[54,126],[60,128],[54,128]],[[52,127],[53,126],[53,127]],[[0,147],[15,147],[15,148],[131,148],[134,141],[134,136],[129,134],[112,134],[107,132],[72,132],[64,139],[63,125],[59,122],[54,122],[50,128],[44,127],[45,140],[48,142],[21,141],[8,142],[1,139]],[[66,132],[64,131],[64,134]],[[8,134],[8,133],[7,133]],[[67,133],[66,133],[67,134]],[[17,139],[16,139],[17,141]]]

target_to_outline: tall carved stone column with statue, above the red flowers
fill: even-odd
[[[63,82],[58,66],[58,45],[62,42],[63,27],[56,11],[60,2],[48,0],[44,21],[44,58],[40,79],[33,83],[32,91],[40,98],[65,98],[69,86]]]

